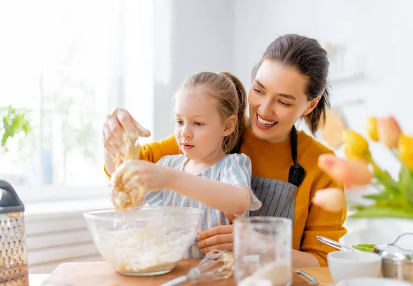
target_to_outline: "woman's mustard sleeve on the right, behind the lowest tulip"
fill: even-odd
[[[317,190],[325,189],[327,187],[342,187],[332,181],[326,174],[321,174],[319,181],[315,183],[310,193],[310,201],[313,200]],[[343,190],[344,192],[344,190]],[[313,254],[319,261],[321,267],[327,267],[327,254],[335,250],[334,248],[317,241],[316,236],[325,236],[335,241],[346,234],[347,230],[343,227],[346,220],[347,208],[345,207],[341,212],[327,212],[313,203],[310,203],[308,211],[308,219],[304,229],[304,234],[301,240],[302,252]]]

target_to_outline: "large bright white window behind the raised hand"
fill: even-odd
[[[23,108],[32,127],[0,153],[0,178],[26,202],[107,195],[105,116],[139,101],[145,108],[131,111],[153,126],[151,6],[149,0],[0,3],[6,43],[0,107]]]

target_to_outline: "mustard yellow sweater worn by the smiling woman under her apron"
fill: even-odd
[[[142,145],[140,159],[156,162],[162,156],[179,154],[180,149],[173,135],[167,139]],[[288,181],[288,171],[293,165],[290,141],[268,143],[257,139],[248,128],[244,135],[241,152],[250,157],[253,176]],[[346,210],[330,213],[311,203],[317,190],[337,187],[337,183],[317,167],[320,154],[331,153],[328,149],[305,132],[298,132],[297,162],[306,170],[306,178],[298,187],[295,198],[293,224],[293,249],[313,254],[321,267],[327,266],[327,254],[334,250],[316,240],[316,236],[326,236],[338,241],[346,234],[343,222]]]

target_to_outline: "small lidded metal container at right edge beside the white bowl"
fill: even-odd
[[[413,233],[401,234],[393,243],[376,245],[374,252],[382,257],[381,272],[383,277],[413,283],[413,249],[404,249],[397,245],[397,242],[403,236],[411,236],[413,241]]]

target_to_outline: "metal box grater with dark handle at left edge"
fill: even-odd
[[[0,180],[0,285],[28,286],[24,205],[13,187]]]

